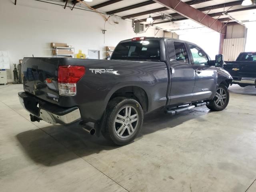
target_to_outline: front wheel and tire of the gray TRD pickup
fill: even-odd
[[[221,95],[221,97],[220,97]],[[222,111],[228,106],[229,92],[228,88],[224,84],[220,84],[216,90],[214,98],[210,101],[209,105],[206,105],[208,109],[213,111]]]

